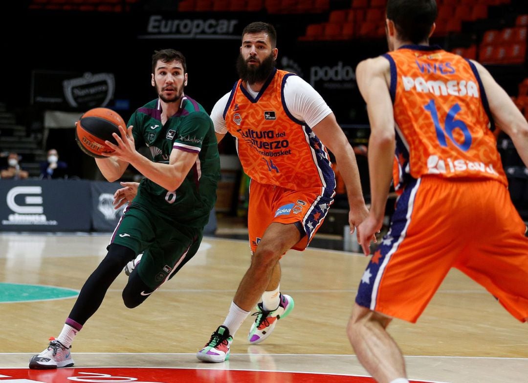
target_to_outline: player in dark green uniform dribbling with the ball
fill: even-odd
[[[172,278],[200,247],[220,178],[213,124],[204,108],[184,95],[187,71],[182,53],[156,51],[151,82],[158,98],[134,112],[128,129],[119,127],[120,135],[114,134],[117,145],[107,142],[115,150],[109,158],[96,158],[110,182],[118,180],[129,164],[145,178],[112,234],[106,257],[82,286],[61,333],[31,358],[30,368],[73,366],[74,336],[136,255],[143,253],[122,292],[129,308]],[[152,158],[137,152],[143,145]]]

